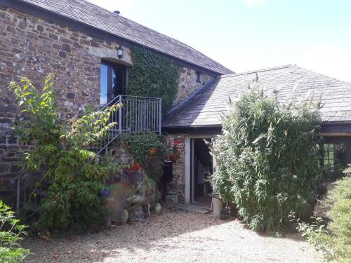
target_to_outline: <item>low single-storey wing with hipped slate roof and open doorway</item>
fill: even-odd
[[[180,140],[180,159],[176,165],[174,187],[185,191],[185,201],[197,201],[208,191],[199,180],[202,166],[211,169],[204,139],[213,140],[221,132],[221,118],[228,111],[228,102],[235,102],[258,76],[258,85],[265,94],[277,96],[285,103],[322,97],[322,135],[325,164],[351,163],[351,83],[333,79],[296,65],[286,65],[252,72],[218,76],[204,88],[174,107],[163,121],[164,133]],[[206,152],[207,151],[207,152]],[[201,161],[201,162],[199,162]],[[200,166],[200,167],[199,167]],[[203,169],[202,169],[203,170]],[[200,198],[201,200],[201,198]]]

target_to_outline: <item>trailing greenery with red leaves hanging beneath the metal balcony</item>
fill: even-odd
[[[155,133],[124,135],[122,140],[128,145],[135,161],[145,169],[147,176],[159,182],[163,173],[166,148],[157,135]]]

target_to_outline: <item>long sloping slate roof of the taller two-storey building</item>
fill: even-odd
[[[197,65],[218,74],[231,74],[218,62],[187,46],[176,39],[160,34],[150,28],[116,15],[100,6],[95,6],[84,0],[20,0],[46,11],[62,15],[104,32],[117,35],[127,41],[152,48],[161,53],[178,58],[192,65]]]

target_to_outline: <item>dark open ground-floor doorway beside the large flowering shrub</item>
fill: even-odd
[[[208,144],[211,139],[191,139],[190,202],[211,208],[213,159]]]

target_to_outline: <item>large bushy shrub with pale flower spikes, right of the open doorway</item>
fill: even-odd
[[[276,231],[290,211],[303,215],[319,176],[319,110],[279,105],[257,83],[223,120],[213,145],[213,187],[257,231]]]

